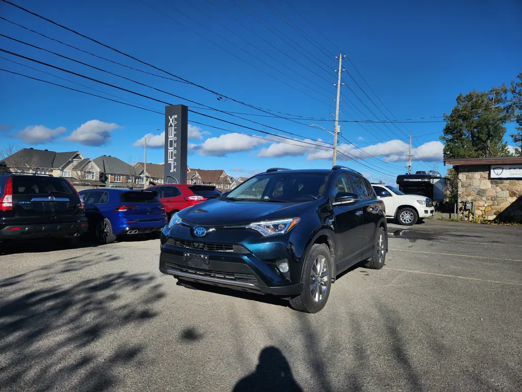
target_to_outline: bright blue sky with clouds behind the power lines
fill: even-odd
[[[282,0],[277,2],[243,0],[243,3],[240,0],[187,0],[187,2],[184,0],[111,2],[54,0],[52,2],[15,1],[15,3],[223,95],[254,106],[305,117],[333,119],[328,115],[335,110],[333,98],[336,90],[333,84],[336,83],[336,75],[333,71],[337,69],[337,60],[334,58],[338,55],[336,47],[341,48],[343,54],[348,55],[378,96],[377,98],[372,93],[348,58],[344,59],[343,68],[347,68],[347,72],[342,73],[342,81],[346,85],[341,87],[345,97],[341,101],[341,120],[350,120],[350,118],[384,120],[382,112],[390,119],[393,116],[397,119],[438,116],[452,109],[459,93],[467,93],[472,89],[489,89],[502,83],[508,84],[522,71],[522,52],[518,50],[522,39],[522,27],[519,22],[522,18],[522,3],[518,0],[440,1],[430,4],[414,1],[377,1],[371,5],[366,2],[326,0],[317,3],[307,0],[299,2],[288,0],[289,4],[312,22],[314,27],[328,37],[335,46]],[[191,4],[212,19],[193,8]],[[299,45],[302,49],[297,48],[305,55],[291,48],[238,5],[251,14],[255,11],[263,18],[259,19],[260,17],[256,16],[259,20],[265,24],[269,22],[273,26],[272,29],[277,28],[278,31],[274,31],[279,36],[294,47]],[[309,34],[313,39],[312,42],[316,42],[322,50],[286,24],[267,5],[275,6],[276,11],[280,11],[294,22],[298,29]],[[0,3],[0,15],[110,60],[161,74],[3,2]],[[265,114],[232,100],[218,100],[218,96],[191,85],[108,63],[23,30],[4,20],[0,20],[0,32],[213,108]],[[159,100],[193,106],[192,103],[168,94],[3,37],[0,37],[0,48]],[[0,53],[0,56],[118,98],[0,59],[0,67],[6,70],[112,99],[131,100],[140,106],[160,112],[164,110],[164,105],[159,102],[52,70],[6,53]],[[377,107],[359,89],[348,73],[372,98]],[[20,147],[32,146],[54,151],[78,150],[84,156],[92,158],[105,154],[124,160],[129,156],[135,160],[142,160],[143,147],[140,147],[139,140],[151,130],[160,128],[156,133],[158,136],[149,139],[147,160],[152,163],[163,161],[160,132],[164,128],[164,119],[160,114],[5,72],[0,72],[0,85],[2,86],[0,89],[2,144],[13,143]],[[358,109],[354,110],[348,100]],[[393,116],[382,105],[381,100]],[[281,131],[252,124],[224,113],[194,110],[276,135],[285,135]],[[273,166],[290,168],[331,166],[331,153],[321,149],[323,144],[317,140],[331,143],[333,136],[321,129],[306,126],[317,121],[302,120],[300,122],[306,123],[303,125],[277,118],[242,117],[300,135],[301,140],[308,140],[319,149],[309,148],[310,144],[300,144],[274,136],[267,137],[262,133],[191,113],[189,123],[191,120],[203,122],[230,131],[264,137],[264,139],[255,139],[192,123],[189,133],[192,151],[188,156],[188,165],[205,169],[224,169],[236,177],[250,175]],[[318,123],[329,130],[334,128],[332,122]],[[409,123],[404,126],[342,123],[342,135],[365,152],[341,139],[341,149],[361,160],[353,162],[338,156],[338,163],[371,175],[371,180],[395,179],[395,175],[404,171],[406,137],[411,132],[416,136],[414,143],[418,147],[414,150],[416,156],[413,158],[413,170],[426,170],[436,163],[438,168],[444,171],[442,145],[438,143],[438,136],[442,133],[443,126],[443,122]],[[288,134],[286,136],[295,137]],[[290,144],[277,143],[278,141]],[[506,136],[506,141],[511,140]],[[369,155],[377,158],[370,158]],[[419,159],[426,162],[419,162]]]

